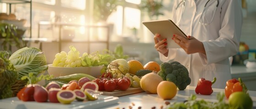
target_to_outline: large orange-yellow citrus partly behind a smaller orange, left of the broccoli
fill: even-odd
[[[152,72],[142,77],[140,85],[147,93],[157,94],[157,87],[163,79],[156,73]]]

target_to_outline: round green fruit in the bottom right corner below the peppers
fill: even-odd
[[[234,92],[229,96],[229,105],[232,109],[252,109],[253,102],[245,92]]]

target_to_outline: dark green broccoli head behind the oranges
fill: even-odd
[[[184,90],[186,86],[191,83],[188,70],[184,65],[177,61],[171,63],[162,63],[161,70],[159,72],[162,72],[162,75],[160,76],[163,79],[173,82],[180,90]],[[166,74],[166,76],[164,76],[164,74]]]

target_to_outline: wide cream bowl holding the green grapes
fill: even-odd
[[[100,70],[104,65],[93,66],[93,67],[54,67],[52,64],[48,65],[48,73],[49,75],[53,75],[54,77],[65,76],[70,74],[89,74],[95,78],[101,75]]]

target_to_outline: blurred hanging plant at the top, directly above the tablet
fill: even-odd
[[[146,11],[150,20],[157,20],[159,15],[163,15],[163,0],[142,0],[139,9]]]

